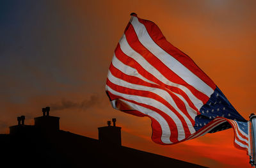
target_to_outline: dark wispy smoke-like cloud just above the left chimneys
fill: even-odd
[[[51,103],[50,107],[52,111],[60,111],[63,109],[88,109],[93,105],[100,104],[100,98],[98,95],[92,95],[88,100],[83,100],[82,102],[74,102],[72,100],[67,100],[62,98],[59,103]]]

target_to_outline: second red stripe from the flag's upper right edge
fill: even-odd
[[[141,42],[138,39],[138,36],[136,32],[134,31],[134,27],[131,23],[129,23],[130,26],[127,27],[125,31],[125,36],[127,39],[127,42],[132,47],[133,50],[138,52],[141,56],[143,56],[150,65],[154,66],[156,70],[158,70],[166,79],[176,83],[180,84],[182,86],[185,86],[188,88],[193,95],[196,96],[199,100],[202,100],[203,103],[206,103],[209,100],[209,97],[205,95],[204,93],[196,90],[193,86],[189,85],[187,82],[185,82],[182,78],[179,77],[176,73],[172,72],[168,66],[164,65],[162,61],[160,61],[154,54],[152,54],[147,48],[145,48]]]

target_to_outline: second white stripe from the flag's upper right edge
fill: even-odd
[[[133,50],[131,48],[131,46],[129,45],[129,43],[127,42],[127,40],[125,38],[125,34],[120,39],[119,43],[120,43],[120,48],[124,52],[124,54],[126,54],[127,56],[129,56],[132,59],[134,59],[135,61],[137,61],[145,70],[147,70],[148,73],[151,73],[152,75],[154,75],[154,77],[156,77],[158,80],[160,80],[164,84],[180,88],[182,91],[184,91],[186,93],[186,95],[188,95],[191,102],[194,103],[195,107],[198,110],[204,105],[203,102],[201,100],[199,100],[198,98],[196,98],[188,88],[186,88],[185,86],[182,86],[180,84],[175,84],[175,83],[171,82],[170,80],[166,79],[166,77],[164,77],[164,75],[162,75],[158,70],[156,70],[156,68],[154,68],[154,66],[150,65],[143,56],[141,56],[135,50]]]

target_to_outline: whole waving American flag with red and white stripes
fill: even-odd
[[[148,116],[158,144],[233,128],[235,146],[250,151],[248,121],[154,22],[135,13],[115,49],[106,93],[113,108]]]

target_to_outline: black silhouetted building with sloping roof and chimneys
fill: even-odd
[[[122,146],[115,118],[98,128],[97,140],[60,130],[60,118],[49,111],[43,108],[35,125],[20,116],[10,134],[0,134],[0,167],[202,167]]]

